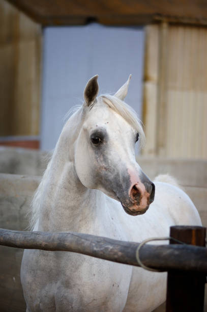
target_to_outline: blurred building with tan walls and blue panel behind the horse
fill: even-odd
[[[207,158],[207,5],[0,0],[0,144],[50,150],[99,74],[143,120],[144,155]]]

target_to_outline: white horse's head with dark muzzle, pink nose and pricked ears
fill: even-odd
[[[75,169],[83,186],[122,203],[126,213],[146,212],[155,186],[135,158],[135,143],[144,137],[135,112],[124,102],[128,81],[112,96],[97,97],[98,75],[86,84],[82,126],[75,145]]]

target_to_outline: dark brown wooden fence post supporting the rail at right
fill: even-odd
[[[202,226],[170,227],[170,237],[190,245],[205,246],[205,234]],[[202,273],[168,271],[166,312],[203,312],[204,285]]]

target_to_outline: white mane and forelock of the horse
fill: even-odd
[[[140,146],[143,146],[144,141],[145,141],[145,136],[144,136],[144,132],[142,129],[142,122],[138,118],[136,112],[127,103],[125,103],[124,101],[122,101],[121,99],[117,98],[114,95],[104,94],[97,98],[97,102],[99,100],[105,105],[107,105],[111,110],[113,110],[114,112],[122,116],[139,133]],[[65,126],[67,126],[68,122],[70,122],[71,117],[74,116],[78,111],[82,114],[83,107],[75,106],[69,110],[69,112],[66,114],[66,117],[64,118]],[[83,118],[84,118],[84,114],[83,114]],[[49,175],[52,157],[53,157],[53,153],[50,153],[49,154],[50,161],[47,165],[47,168],[43,174],[42,180],[34,194],[34,197],[31,203],[31,209],[29,210],[29,215],[31,215],[31,217],[29,218],[30,220],[29,220],[29,226],[28,226],[30,230],[34,228],[36,222],[39,219],[42,194],[46,185],[47,177]]]

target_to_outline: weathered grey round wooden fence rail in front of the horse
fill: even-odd
[[[139,243],[118,241],[76,232],[30,232],[0,229],[0,245],[50,251],[78,252],[93,257],[139,266]],[[207,249],[192,245],[143,245],[140,260],[164,271],[181,270],[207,274]]]

